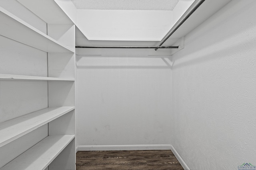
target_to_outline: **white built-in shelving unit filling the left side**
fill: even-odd
[[[54,0],[8,3],[28,12],[0,2],[0,170],[75,170],[74,23]]]

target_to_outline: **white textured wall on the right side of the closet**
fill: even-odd
[[[172,58],[171,144],[191,170],[256,165],[255,7],[231,1]]]

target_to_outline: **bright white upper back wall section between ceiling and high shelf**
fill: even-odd
[[[161,41],[172,11],[77,10],[77,26],[89,40]]]

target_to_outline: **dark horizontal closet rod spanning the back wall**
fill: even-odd
[[[104,48],[104,49],[178,49],[179,46],[76,46],[76,48]]]

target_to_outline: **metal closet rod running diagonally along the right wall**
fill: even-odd
[[[155,50],[159,49],[159,47],[162,47],[163,43],[182,25],[188,17],[190,17],[196,9],[204,2],[205,0],[198,0],[196,4],[188,11],[183,14],[183,16],[174,24],[174,26],[170,29],[169,33],[162,39],[161,43],[158,45],[158,47],[155,48]]]

